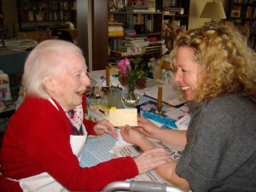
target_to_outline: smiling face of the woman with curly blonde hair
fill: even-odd
[[[199,63],[193,58],[195,58],[195,55],[189,47],[177,49],[177,73],[173,81],[181,85],[187,101],[193,101],[195,89],[198,87],[201,79]]]

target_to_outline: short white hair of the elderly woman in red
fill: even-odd
[[[75,44],[63,40],[45,40],[32,49],[24,67],[24,88],[26,95],[48,98],[44,90],[44,77],[54,76],[64,70],[65,58],[68,55],[80,53]]]

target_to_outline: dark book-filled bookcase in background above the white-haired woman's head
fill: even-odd
[[[67,27],[70,21],[76,26],[75,0],[17,0],[19,30],[45,30]]]

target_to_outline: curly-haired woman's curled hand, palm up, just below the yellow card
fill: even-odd
[[[146,139],[140,132],[131,128],[130,125],[125,125],[124,127],[119,127],[120,133],[125,140],[125,142],[135,144],[140,146],[140,141]]]

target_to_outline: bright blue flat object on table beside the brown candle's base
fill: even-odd
[[[147,119],[154,120],[155,122],[158,122],[160,124],[164,124],[161,128],[177,129],[177,125],[175,125],[175,122],[177,120],[172,119],[170,117],[164,117],[164,116],[162,116],[160,114],[153,113],[153,112],[150,112],[150,111],[145,111],[143,113],[143,117],[147,118]]]

